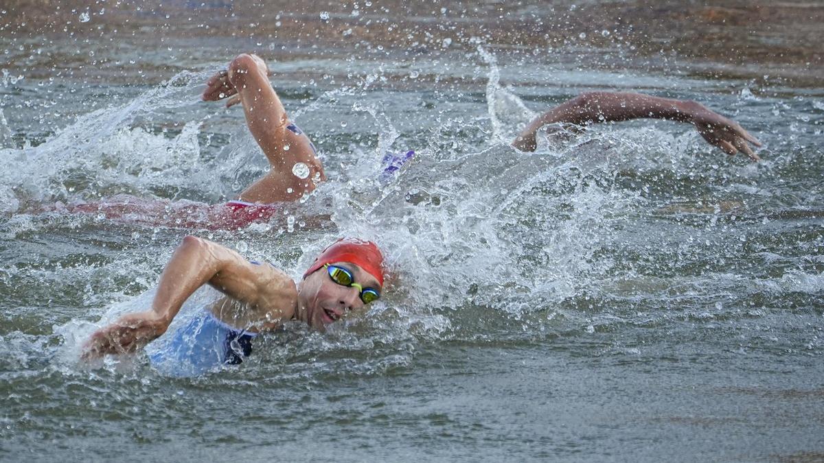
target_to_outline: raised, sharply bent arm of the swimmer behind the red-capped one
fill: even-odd
[[[269,69],[254,54],[241,54],[206,81],[204,101],[231,98],[227,106],[243,104],[246,124],[263,150],[271,171],[241,193],[240,199],[252,203],[294,201],[315,189],[316,180],[325,180],[321,161],[309,138],[299,130],[290,130],[286,110],[269,83]],[[294,127],[294,126],[291,126]],[[308,175],[297,176],[297,163],[308,167]]]

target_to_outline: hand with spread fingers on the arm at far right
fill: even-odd
[[[712,110],[707,109],[700,103],[691,103],[690,122],[698,129],[701,137],[707,143],[721,148],[723,152],[733,156],[737,152],[743,152],[753,161],[761,161],[761,157],[752,151],[747,143],[752,143],[756,147],[761,146],[757,138],[747,133],[735,121],[723,117]]]

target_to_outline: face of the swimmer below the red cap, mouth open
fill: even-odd
[[[377,279],[358,265],[349,262],[335,262],[330,265],[349,270],[354,283],[358,283],[363,288],[381,291],[381,285],[377,283]],[[365,307],[360,297],[360,289],[335,283],[330,278],[329,271],[324,267],[303,279],[297,298],[301,306],[306,309],[307,324],[318,330],[324,330],[326,325],[334,323],[350,312],[362,312]]]

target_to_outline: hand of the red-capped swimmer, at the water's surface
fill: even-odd
[[[81,358],[92,360],[107,354],[133,353],[157,339],[167,327],[153,311],[127,314],[91,334],[83,345]]]

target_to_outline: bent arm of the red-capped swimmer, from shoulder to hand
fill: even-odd
[[[297,293],[292,279],[270,265],[252,264],[226,247],[186,236],[163,270],[152,308],[121,316],[96,331],[84,346],[83,358],[134,352],[157,339],[183,302],[206,283],[249,306],[293,307],[290,297]],[[278,316],[292,313],[274,314]]]

